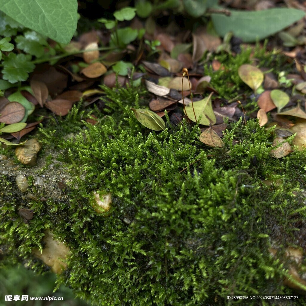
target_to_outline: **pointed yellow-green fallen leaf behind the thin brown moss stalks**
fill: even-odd
[[[211,124],[216,123],[216,116],[214,114],[214,111],[212,110],[212,105],[211,105],[211,96],[212,93],[207,98],[193,102],[193,108],[196,113],[196,119],[198,120],[199,117],[202,116],[200,124],[210,125],[210,123]],[[191,103],[185,107],[185,110],[186,112],[185,111],[184,112],[188,116],[188,118],[191,121],[196,122]]]

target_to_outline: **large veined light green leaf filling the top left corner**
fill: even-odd
[[[69,43],[77,24],[77,0],[0,0],[9,17],[59,43]]]

